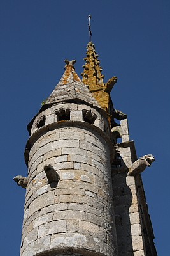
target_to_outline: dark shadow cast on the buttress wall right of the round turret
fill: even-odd
[[[131,212],[129,211],[132,205],[132,193],[127,186],[126,177],[127,172],[115,173],[115,168],[112,168],[113,202],[119,256],[134,255],[130,222]]]

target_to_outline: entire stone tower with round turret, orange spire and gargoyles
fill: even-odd
[[[110,97],[117,77],[104,83],[92,42],[82,81],[65,62],[27,126],[28,176],[14,178],[26,188],[20,256],[155,256],[140,175],[154,157],[136,157],[127,115]]]

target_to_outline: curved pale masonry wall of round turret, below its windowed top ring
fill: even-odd
[[[45,164],[58,173],[57,187],[48,184]],[[20,255],[116,256],[116,248],[108,144],[83,127],[46,132],[29,153]]]

